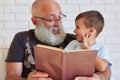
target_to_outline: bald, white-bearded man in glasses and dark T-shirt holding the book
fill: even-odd
[[[75,39],[64,32],[60,5],[54,0],[36,0],[32,4],[34,30],[15,35],[6,59],[6,80],[52,80],[43,72],[35,71],[33,46],[44,44],[58,48]],[[93,77],[76,77],[75,80],[109,80],[110,68],[105,72],[95,72]]]

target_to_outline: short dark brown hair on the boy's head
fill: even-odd
[[[104,18],[100,12],[91,10],[91,11],[80,13],[76,17],[75,21],[81,18],[85,19],[84,24],[87,28],[94,27],[96,29],[97,31],[96,36],[98,36],[100,32],[103,30]]]

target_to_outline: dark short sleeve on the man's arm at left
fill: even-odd
[[[16,34],[10,45],[6,62],[22,62],[24,59],[24,46],[22,37]]]

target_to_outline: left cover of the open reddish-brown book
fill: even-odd
[[[53,80],[62,80],[63,53],[53,49],[34,47],[36,70],[46,72]]]

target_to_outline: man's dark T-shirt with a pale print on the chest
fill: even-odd
[[[67,44],[74,39],[75,36],[73,34],[67,34],[65,40],[54,47],[64,49]],[[35,69],[34,46],[37,44],[47,45],[35,37],[34,30],[29,30],[17,33],[10,45],[6,62],[22,62],[22,77],[27,77],[28,74]]]

